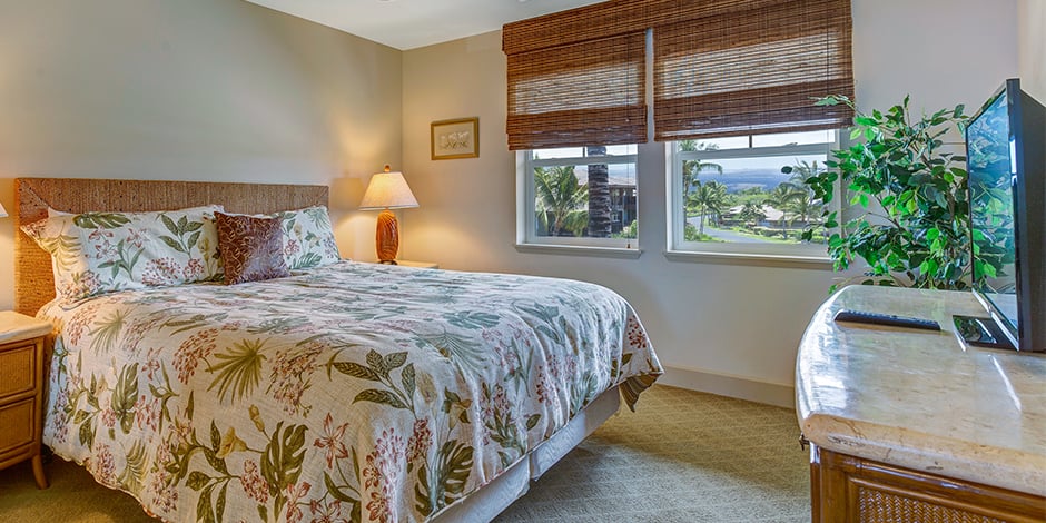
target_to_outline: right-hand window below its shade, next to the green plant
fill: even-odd
[[[671,250],[826,258],[826,238],[800,238],[823,209],[803,180],[825,170],[837,137],[829,130],[672,142]]]

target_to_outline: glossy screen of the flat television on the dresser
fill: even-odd
[[[1017,280],[1014,184],[1017,171],[1006,92],[999,92],[967,127],[974,274],[979,287],[1016,332]]]

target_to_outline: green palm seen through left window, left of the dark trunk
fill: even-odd
[[[568,221],[575,226],[576,216],[584,213],[589,200],[589,190],[578,182],[574,166],[535,167],[534,193],[537,197],[537,221],[550,236],[560,236],[568,228]]]

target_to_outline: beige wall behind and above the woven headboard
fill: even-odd
[[[16,177],[320,184],[347,213],[398,164],[402,55],[239,0],[0,0],[0,203]],[[0,219],[0,309],[13,305]]]

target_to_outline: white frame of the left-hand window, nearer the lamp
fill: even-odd
[[[554,253],[574,250],[578,254],[596,256],[638,257],[639,231],[635,238],[585,238],[570,236],[539,236],[536,230],[537,208],[534,187],[534,168],[551,166],[588,166],[593,164],[632,164],[635,169],[635,216],[640,214],[639,193],[639,144],[629,144],[637,151],[629,155],[582,156],[569,158],[535,159],[534,150],[516,151],[516,248],[520,250]],[[611,146],[608,146],[611,147]],[[583,147],[582,147],[583,148]],[[541,150],[541,149],[539,149]],[[593,161],[595,160],[595,161]]]

